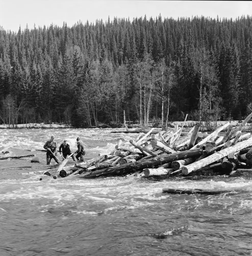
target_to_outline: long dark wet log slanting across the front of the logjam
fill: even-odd
[[[169,155],[157,156],[154,158],[140,159],[134,163],[123,164],[119,166],[109,167],[103,170],[97,170],[91,173],[80,175],[80,178],[93,178],[99,176],[113,176],[113,175],[126,175],[133,171],[156,167],[165,163],[173,162],[175,160],[182,160],[185,158],[200,156],[203,154],[202,148],[196,148],[195,150],[187,150],[183,152],[177,152]]]

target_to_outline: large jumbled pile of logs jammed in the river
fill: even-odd
[[[252,137],[250,133],[242,134],[251,116],[252,113],[235,128],[227,122],[209,134],[199,132],[200,123],[189,132],[183,132],[183,126],[158,133],[153,128],[125,144],[120,141],[108,155],[99,154],[75,164],[70,170],[62,171],[62,177],[80,174],[79,178],[169,178],[252,173]]]

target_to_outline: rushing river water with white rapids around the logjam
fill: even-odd
[[[137,134],[111,129],[0,130],[0,147],[13,142],[13,155],[76,137],[85,158],[108,154]],[[10,152],[11,154],[11,152]],[[39,180],[47,169],[28,158],[0,163],[0,255],[252,255],[252,183],[241,177],[155,180],[137,177]],[[54,160],[52,159],[52,162]],[[72,158],[69,160],[73,164]],[[10,169],[15,166],[31,169]],[[3,168],[6,168],[5,170]],[[9,168],[9,170],[7,170]],[[228,189],[219,195],[171,195],[162,188]]]

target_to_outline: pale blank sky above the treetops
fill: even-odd
[[[69,27],[78,20],[82,23],[96,19],[150,17],[194,17],[237,18],[252,14],[252,1],[154,1],[154,0],[0,0],[0,26],[6,31],[18,31],[46,27],[50,24]]]

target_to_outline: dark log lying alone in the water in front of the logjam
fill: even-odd
[[[221,193],[232,193],[232,190],[215,190],[215,189],[188,189],[188,188],[163,188],[163,193],[170,194],[202,194],[216,195]]]

